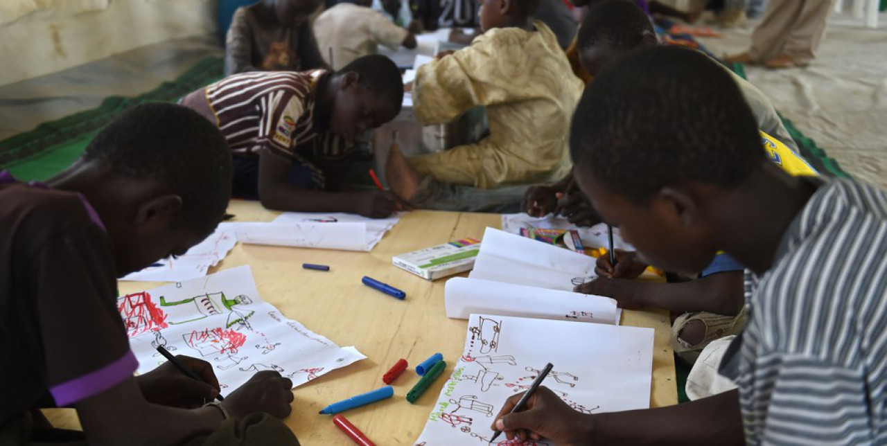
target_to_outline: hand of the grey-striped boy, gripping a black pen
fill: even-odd
[[[523,411],[508,413],[521,396],[523,394],[513,395],[506,400],[492,429],[505,432],[508,440],[515,436],[522,441],[547,438],[558,446],[590,442],[592,416],[574,411],[545,386],[536,389]]]

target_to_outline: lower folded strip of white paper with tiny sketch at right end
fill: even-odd
[[[451,278],[443,290],[446,316],[457,319],[475,313],[619,325],[622,315],[616,301],[608,297],[536,286]]]

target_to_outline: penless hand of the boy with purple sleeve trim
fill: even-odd
[[[263,370],[225,397],[222,405],[235,419],[254,412],[268,412],[283,419],[293,411],[290,406],[293,400],[293,381],[280,376],[279,372]]]

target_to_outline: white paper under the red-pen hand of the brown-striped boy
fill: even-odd
[[[222,223],[241,243],[371,251],[400,214],[373,219],[353,214],[288,212],[271,223]]]

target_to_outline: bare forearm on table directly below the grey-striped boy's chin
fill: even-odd
[[[670,311],[708,311],[733,316],[742,309],[742,271],[721,272],[687,282],[632,280],[634,303]]]

